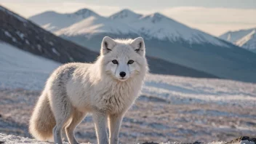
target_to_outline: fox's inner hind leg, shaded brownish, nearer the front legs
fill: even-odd
[[[71,123],[65,127],[65,134],[68,137],[68,142],[70,144],[78,144],[76,137],[73,131],[76,129],[76,126],[81,123],[87,113],[82,113],[81,111],[73,110],[73,115],[71,117]]]

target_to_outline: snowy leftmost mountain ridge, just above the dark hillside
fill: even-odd
[[[68,14],[60,14],[57,12],[48,11],[30,17],[29,19],[36,24],[41,25],[42,28],[45,28],[48,31],[57,31],[74,23],[78,23],[79,21],[91,16],[100,17],[89,9],[80,9],[77,12]]]

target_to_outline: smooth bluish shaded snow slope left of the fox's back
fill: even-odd
[[[33,55],[0,41],[0,86],[41,89],[60,63]]]

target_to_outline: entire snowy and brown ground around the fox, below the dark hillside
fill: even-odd
[[[0,132],[31,137],[28,119],[58,63],[0,43]],[[121,126],[121,143],[229,141],[256,136],[256,84],[149,74]],[[92,117],[77,127],[79,142],[95,143]]]

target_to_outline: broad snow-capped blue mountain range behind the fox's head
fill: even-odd
[[[103,36],[119,39],[143,36],[148,56],[224,79],[256,82],[255,53],[189,28],[159,12],[140,15],[123,9],[103,17],[92,10],[80,9],[68,14],[43,12],[29,19],[95,52],[100,49]]]

